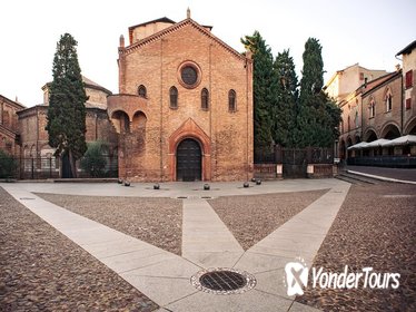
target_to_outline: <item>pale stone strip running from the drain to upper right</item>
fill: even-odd
[[[301,259],[309,267],[311,266],[349,187],[348,183],[339,183],[334,186],[304,211],[246,251],[235,267],[254,274],[257,279],[257,290],[290,298],[287,296],[284,284],[285,265]]]

